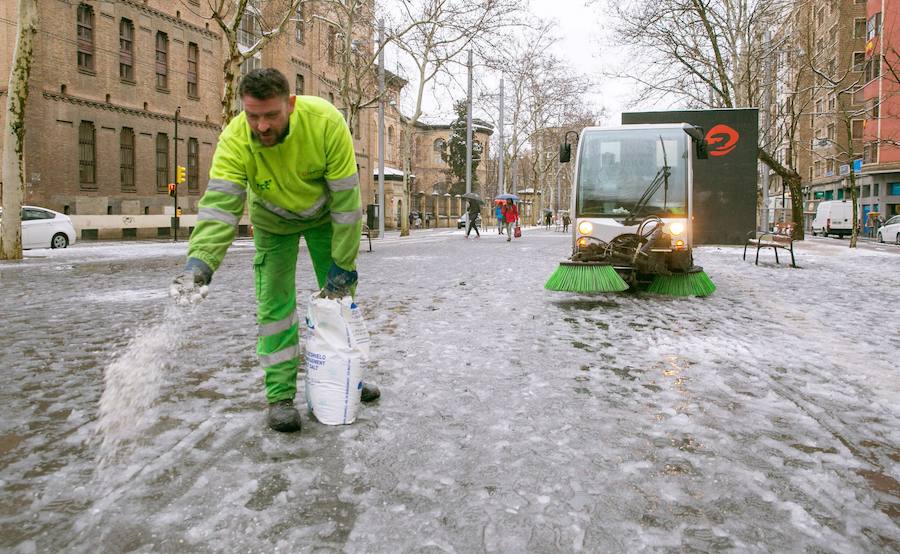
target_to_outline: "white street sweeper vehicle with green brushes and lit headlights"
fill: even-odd
[[[693,167],[707,156],[703,129],[687,123],[588,127],[577,144],[572,256],[545,287],[712,294],[712,281],[694,265],[691,231]],[[560,162],[570,157],[565,142]]]

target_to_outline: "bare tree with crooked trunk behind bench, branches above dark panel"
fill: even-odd
[[[618,73],[641,89],[637,102],[673,98],[692,108],[757,106],[771,82],[763,69],[773,55],[763,30],[788,20],[805,2],[792,0],[661,0],[652,4],[614,4],[619,44],[631,44],[642,63]],[[795,98],[796,100],[796,98]],[[800,107],[792,104],[796,115]],[[794,140],[796,119],[778,135],[763,133],[757,156],[790,188],[795,238],[802,238],[800,175],[791,156],[779,161],[771,148]],[[779,140],[766,141],[777,136]]]

